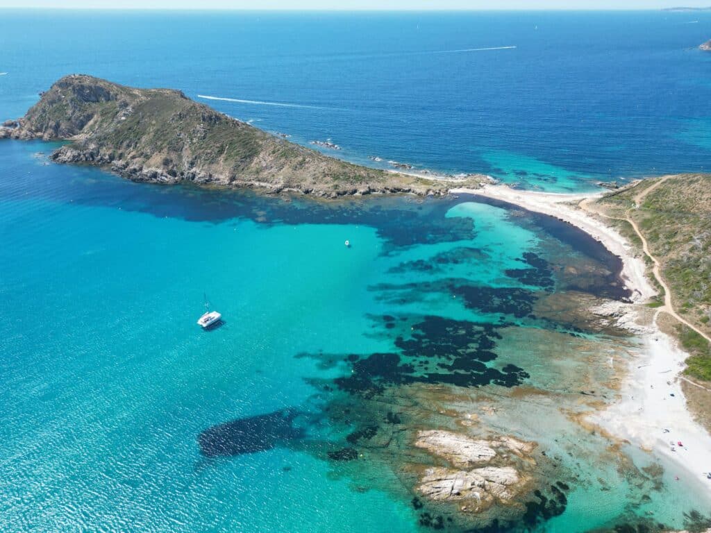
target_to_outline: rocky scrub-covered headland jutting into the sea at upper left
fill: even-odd
[[[358,166],[268,134],[194,102],[180,91],[136,89],[68,75],[25,117],[0,126],[0,139],[70,141],[59,163],[109,168],[133,181],[248,187],[336,198],[370,193],[444,194],[451,186]],[[331,146],[328,146],[331,148]],[[469,176],[476,186],[486,176]]]

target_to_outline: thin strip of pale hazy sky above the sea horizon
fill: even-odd
[[[0,8],[112,9],[661,9],[711,0],[0,0]]]

